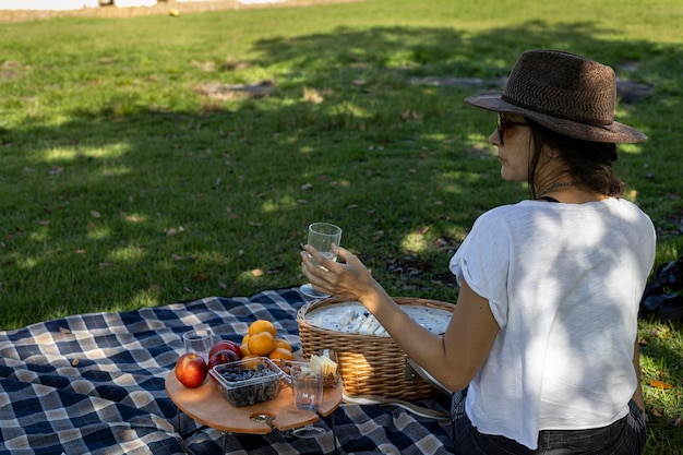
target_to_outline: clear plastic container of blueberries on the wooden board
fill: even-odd
[[[229,380],[231,372],[257,375],[251,379]],[[281,380],[286,374],[267,357],[255,357],[237,362],[223,363],[213,367],[208,373],[218,384],[220,394],[233,407],[253,406],[262,402],[275,399],[281,387]]]

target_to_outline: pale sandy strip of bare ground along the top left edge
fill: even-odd
[[[99,8],[83,8],[72,11],[34,11],[34,10],[0,10],[0,23],[41,21],[52,17],[81,16],[81,17],[134,17],[140,15],[169,14],[177,10],[181,15],[217,10],[244,10],[254,8],[289,8],[310,7],[324,3],[350,3],[359,0],[285,0],[275,3],[240,3],[238,0],[211,0],[211,1],[184,1],[176,0],[159,1],[153,7],[118,8],[106,5]]]

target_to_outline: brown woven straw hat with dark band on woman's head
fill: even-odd
[[[543,127],[585,141],[647,141],[636,129],[614,121],[616,80],[604,64],[559,50],[528,50],[510,73],[502,94],[465,99],[496,112],[520,113]]]

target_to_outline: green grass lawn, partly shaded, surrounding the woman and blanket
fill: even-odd
[[[682,19],[678,0],[369,0],[1,24],[0,327],[303,283],[316,220],[391,294],[454,301],[474,219],[527,196],[463,99],[529,48],[651,86],[619,105],[650,141],[616,165],[671,261]],[[640,326],[651,455],[683,446],[680,328]]]

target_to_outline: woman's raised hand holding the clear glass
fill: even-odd
[[[344,248],[337,249],[342,263],[331,261],[307,244],[301,252],[303,273],[317,291],[363,301],[381,289],[358,258]],[[311,260],[313,258],[313,262]],[[323,268],[319,267],[320,264]]]

